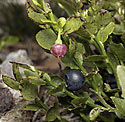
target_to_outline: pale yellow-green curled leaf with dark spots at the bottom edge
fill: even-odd
[[[89,119],[94,121],[103,110],[99,107],[93,108],[89,113]]]

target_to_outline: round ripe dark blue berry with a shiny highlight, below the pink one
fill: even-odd
[[[65,85],[69,91],[77,91],[85,84],[84,74],[78,69],[70,69],[65,74]]]

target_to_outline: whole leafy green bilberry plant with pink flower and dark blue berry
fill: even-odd
[[[67,122],[61,116],[60,107],[78,116],[79,122],[124,119],[124,1],[54,2],[55,8],[50,7],[51,0],[50,4],[44,0],[27,0],[26,9],[29,18],[41,28],[36,34],[38,44],[65,64],[63,76],[11,62],[15,79],[3,76],[4,83],[20,90],[26,100],[35,102],[24,110],[46,111],[46,121]],[[56,11],[59,7],[60,11]],[[25,77],[22,77],[20,67],[25,69]],[[105,72],[113,79],[105,79]],[[112,80],[117,87],[110,85]],[[59,105],[55,103],[49,108],[44,104],[39,97],[38,86],[46,86],[48,95],[56,96]]]

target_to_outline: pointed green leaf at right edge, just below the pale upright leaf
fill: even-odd
[[[125,99],[117,97],[111,97],[111,99],[116,106],[116,112],[120,112],[123,116],[125,116]]]

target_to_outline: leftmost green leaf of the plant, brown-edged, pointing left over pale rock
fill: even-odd
[[[19,90],[19,83],[12,78],[2,76],[3,82],[12,89]]]

